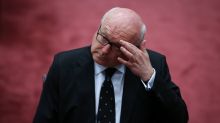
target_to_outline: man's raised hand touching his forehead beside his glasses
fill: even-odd
[[[144,48],[145,42],[145,40],[142,41],[139,49],[129,42],[120,40],[120,50],[128,58],[128,60],[118,57],[118,61],[120,63],[125,64],[135,75],[139,76],[143,81],[149,80],[154,72],[148,52]]]

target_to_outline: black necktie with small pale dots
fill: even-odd
[[[115,123],[115,96],[111,77],[116,71],[115,68],[105,70],[105,81],[102,84],[97,123]]]

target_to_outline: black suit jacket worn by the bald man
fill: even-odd
[[[178,87],[171,82],[166,59],[150,51],[156,70],[153,88],[126,68],[121,123],[186,123],[188,113]],[[94,61],[90,47],[54,57],[43,86],[34,123],[95,123]]]

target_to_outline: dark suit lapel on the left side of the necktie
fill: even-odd
[[[95,123],[95,82],[94,82],[94,62],[92,60],[92,56],[90,53],[90,48],[86,51],[86,55],[84,57],[79,58],[79,76],[78,79],[80,81],[79,85],[79,93],[80,98],[85,99],[82,105],[82,116],[84,116],[84,120],[87,120],[88,123]]]

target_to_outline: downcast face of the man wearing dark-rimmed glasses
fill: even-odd
[[[111,28],[102,25],[95,33],[91,46],[91,53],[95,62],[106,67],[119,65],[117,58],[125,56],[120,51],[120,40],[135,43],[131,31],[122,31],[118,28]],[[126,58],[125,58],[126,59]]]

